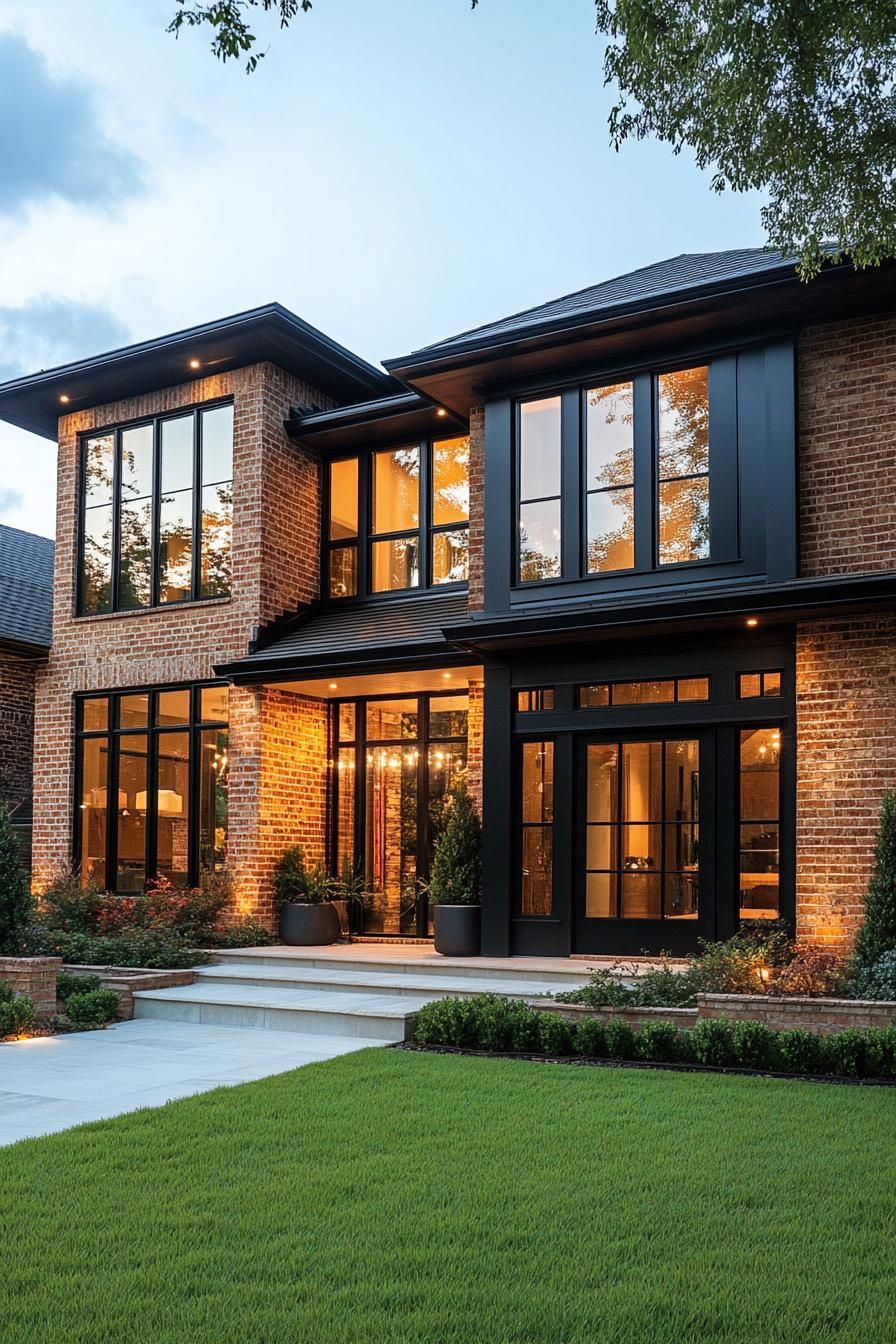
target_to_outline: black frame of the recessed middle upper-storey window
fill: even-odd
[[[427,438],[402,438],[387,444],[371,444],[368,448],[353,449],[345,453],[333,453],[324,464],[322,478],[322,508],[321,508],[321,601],[324,602],[355,602],[377,601],[380,598],[406,597],[415,593],[455,593],[469,587],[469,538],[470,516],[465,523],[434,523],[433,521],[433,457],[435,445],[466,438],[469,434],[431,434]],[[395,532],[373,532],[373,456],[376,453],[394,453],[398,449],[416,449],[419,452],[419,499],[418,499],[418,526],[415,528],[402,528]],[[330,539],[330,468],[334,462],[357,461],[357,535],[352,538]],[[467,536],[467,578],[455,579],[451,583],[433,582],[433,556],[435,538],[449,532],[466,532]],[[415,536],[418,544],[418,574],[419,583],[414,587],[384,589],[373,591],[373,544],[376,542],[391,542],[402,538]],[[355,548],[356,552],[356,591],[343,595],[332,595],[330,555],[333,551]]]

